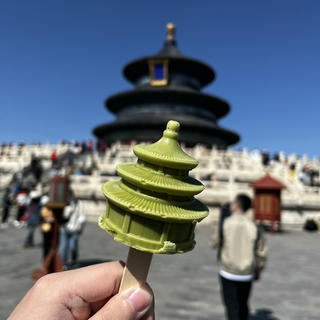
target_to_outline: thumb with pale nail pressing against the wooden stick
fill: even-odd
[[[146,287],[113,296],[90,320],[138,320],[151,308],[153,294]]]

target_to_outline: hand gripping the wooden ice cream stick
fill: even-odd
[[[39,279],[7,320],[154,320],[145,285],[118,294],[121,262],[109,262]]]

